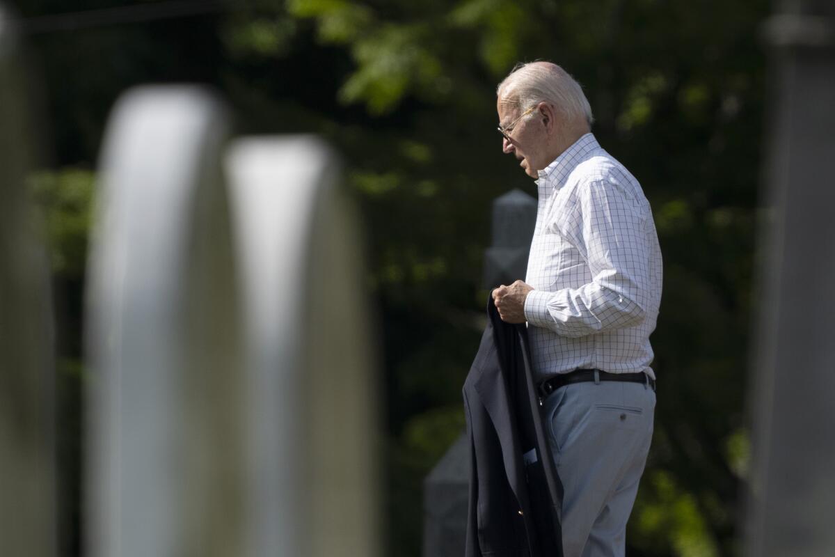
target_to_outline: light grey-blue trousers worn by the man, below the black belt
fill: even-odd
[[[652,438],[655,392],[632,382],[581,382],[544,401],[563,484],[564,557],[622,557]]]

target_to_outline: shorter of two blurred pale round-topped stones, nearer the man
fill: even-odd
[[[252,555],[375,557],[377,384],[357,222],[311,137],[226,157],[245,287]]]

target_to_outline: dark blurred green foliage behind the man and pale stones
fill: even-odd
[[[643,185],[664,255],[655,438],[628,554],[740,553],[766,2],[235,0],[178,17],[170,2],[11,3],[29,28],[51,154],[31,186],[59,320],[61,554],[82,550],[83,274],[96,158],[119,94],[211,84],[236,134],[310,132],[342,152],[382,338],[385,554],[417,557],[423,478],[463,431],[490,203],[512,188],[535,195],[501,153],[495,86],[538,58],[584,85],[593,131]],[[38,19],[139,4],[159,13],[60,20],[67,28]]]

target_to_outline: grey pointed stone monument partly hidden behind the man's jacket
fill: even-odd
[[[524,280],[536,224],[536,201],[511,190],[493,201],[493,246],[484,252],[484,288]],[[473,354],[475,356],[475,354]],[[423,554],[460,557],[467,534],[470,444],[453,443],[423,482]]]

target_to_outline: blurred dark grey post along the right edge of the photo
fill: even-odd
[[[751,373],[746,554],[812,557],[835,554],[835,3],[781,7],[765,26],[773,213],[763,223],[768,261]]]

